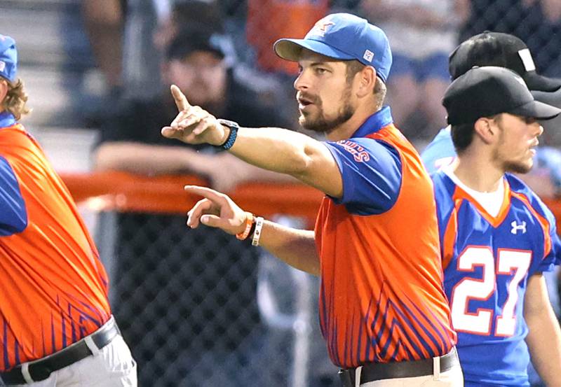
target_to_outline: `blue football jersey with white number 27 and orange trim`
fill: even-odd
[[[506,174],[492,216],[443,171],[433,175],[445,292],[466,386],[529,386],[523,318],[529,276],[561,254],[553,214]]]

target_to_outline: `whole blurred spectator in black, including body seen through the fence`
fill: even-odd
[[[215,153],[213,147],[178,146],[177,141],[161,136],[161,127],[168,125],[177,113],[169,92],[171,84],[189,92],[191,103],[205,106],[215,115],[247,126],[285,125],[276,111],[259,104],[255,94],[234,79],[225,63],[226,52],[220,38],[214,30],[201,26],[177,34],[161,66],[165,87],[156,98],[129,101],[116,117],[110,118],[95,151],[97,170],[146,175],[192,172],[207,176],[212,185],[225,190],[248,180],[292,181],[280,174],[248,167],[229,153]],[[255,301],[255,262],[259,251],[250,251],[250,246],[238,241],[231,244],[222,235],[206,230],[204,234],[186,234],[183,216],[122,213],[116,222],[116,278],[120,280],[114,286],[118,296],[116,314],[124,321],[123,336],[131,340],[131,349],[140,364],[139,384],[247,384],[239,358],[244,358],[243,353],[245,358],[248,353],[259,353],[253,348],[242,352],[248,342],[255,342],[255,332],[260,329]],[[142,238],[149,246],[147,251],[139,248],[135,239],[138,230],[162,230],[161,227],[174,236],[172,244],[161,244],[156,232]],[[209,244],[201,244],[203,239]],[[175,269],[156,271],[154,267]],[[228,286],[218,286],[217,276],[220,283]],[[147,288],[147,281],[155,281],[158,288]],[[181,284],[180,290],[177,284]],[[180,297],[178,292],[182,293]],[[149,309],[135,306],[139,299],[149,304]],[[169,300],[174,300],[171,309]],[[151,315],[154,310],[161,311],[157,321]],[[154,350],[154,341],[135,339],[150,336],[149,327],[156,323],[165,327],[165,333],[158,333],[166,338],[158,341],[158,356],[149,352]],[[155,372],[161,356],[173,361]],[[220,362],[224,365],[217,366]]]

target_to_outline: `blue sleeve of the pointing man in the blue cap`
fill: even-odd
[[[350,213],[384,213],[396,203],[401,188],[401,159],[396,148],[374,139],[325,142],[343,178],[343,197],[333,198]]]

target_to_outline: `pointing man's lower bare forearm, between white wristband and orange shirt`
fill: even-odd
[[[259,245],[296,269],[320,274],[320,258],[311,230],[296,230],[265,220]]]

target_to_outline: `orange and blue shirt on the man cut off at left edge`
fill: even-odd
[[[90,335],[111,316],[107,274],[40,146],[0,112],[0,372]]]

